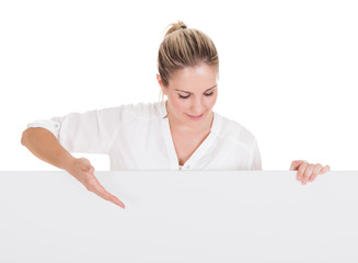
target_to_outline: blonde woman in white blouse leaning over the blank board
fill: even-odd
[[[106,153],[111,170],[261,170],[255,137],[212,112],[218,96],[219,58],[203,32],[172,24],[159,48],[158,82],[163,103],[72,113],[28,124],[22,144],[39,159],[68,171],[89,191],[125,207],[94,176],[84,158],[70,152]],[[330,167],[292,161],[305,184]]]

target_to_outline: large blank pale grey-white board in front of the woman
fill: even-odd
[[[0,172],[0,262],[358,262],[358,172]]]

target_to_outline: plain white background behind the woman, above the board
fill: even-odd
[[[158,48],[177,20],[216,44],[213,111],[255,135],[264,170],[358,170],[357,13],[345,0],[1,1],[0,170],[54,170],[20,144],[32,121],[159,101]]]

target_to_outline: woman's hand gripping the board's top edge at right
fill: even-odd
[[[330,165],[322,167],[321,163],[308,163],[304,160],[292,161],[290,171],[297,171],[296,179],[301,181],[302,184],[313,182],[317,175],[331,171]]]

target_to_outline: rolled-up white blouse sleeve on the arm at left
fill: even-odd
[[[123,121],[124,107],[70,113],[49,121],[36,121],[27,127],[51,132],[70,152],[108,153],[114,136]]]

